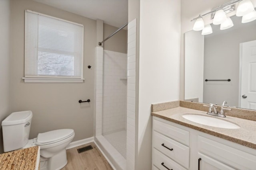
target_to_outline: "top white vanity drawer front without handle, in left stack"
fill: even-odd
[[[162,121],[153,119],[153,130],[168,136],[175,141],[183,143],[184,145],[189,145],[189,132],[178,127],[174,127]]]

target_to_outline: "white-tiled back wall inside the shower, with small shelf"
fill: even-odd
[[[126,129],[127,54],[103,52],[102,134]]]

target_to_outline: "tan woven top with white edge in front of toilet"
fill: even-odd
[[[40,147],[14,150],[0,154],[1,170],[38,170]]]

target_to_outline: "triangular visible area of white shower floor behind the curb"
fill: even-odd
[[[119,131],[104,135],[108,142],[126,158],[126,131]]]

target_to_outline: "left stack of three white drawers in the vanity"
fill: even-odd
[[[153,119],[152,167],[188,170],[189,153],[188,131]]]

